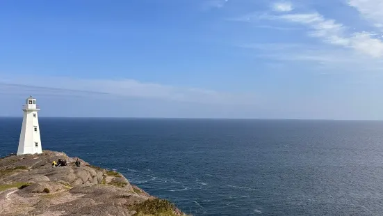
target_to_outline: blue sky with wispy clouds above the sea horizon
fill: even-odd
[[[383,119],[378,0],[1,1],[0,116]]]

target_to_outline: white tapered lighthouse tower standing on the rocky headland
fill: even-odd
[[[36,99],[26,98],[25,105],[22,107],[24,111],[22,132],[20,133],[19,148],[17,155],[42,153],[40,128],[38,126],[38,111]]]

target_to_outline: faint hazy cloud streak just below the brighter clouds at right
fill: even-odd
[[[350,52],[343,47],[329,45],[308,46],[305,44],[278,44],[245,47],[259,49],[256,54],[260,59],[272,59],[286,65],[309,65],[311,72],[350,73],[350,72],[380,72],[383,70],[383,60],[370,58],[366,54]],[[273,49],[274,48],[274,49]],[[336,70],[334,70],[336,69]]]

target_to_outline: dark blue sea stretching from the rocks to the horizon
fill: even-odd
[[[0,118],[0,155],[22,118]],[[40,118],[42,146],[193,215],[383,215],[383,122]]]

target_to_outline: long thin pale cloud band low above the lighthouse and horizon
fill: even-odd
[[[0,74],[0,93],[9,89],[28,88],[31,91],[51,92],[56,95],[78,94],[103,97],[120,96],[205,104],[251,105],[256,102],[252,94],[233,94],[200,88],[182,88],[161,84],[142,83],[133,79],[75,79],[68,77],[35,77]],[[7,90],[8,89],[8,90]]]

